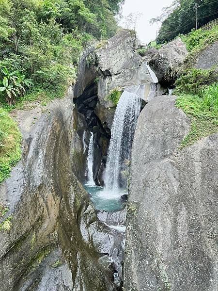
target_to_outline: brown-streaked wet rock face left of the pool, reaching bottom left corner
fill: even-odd
[[[115,254],[122,254],[123,234],[98,221],[73,173],[75,140],[82,151],[73,111],[69,91],[35,125],[25,113],[19,120],[23,158],[0,185],[0,200],[10,208],[6,216],[13,217],[10,232],[0,232],[1,291],[118,290],[113,272],[122,277]],[[114,258],[113,267],[101,264],[102,254]]]

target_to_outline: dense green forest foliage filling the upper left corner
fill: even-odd
[[[82,49],[116,32],[122,2],[0,0],[1,103],[15,104],[30,88],[31,99],[60,93],[74,82]]]

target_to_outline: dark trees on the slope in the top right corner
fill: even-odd
[[[198,6],[197,28],[218,18],[217,0],[174,0],[170,7],[163,9],[161,16],[151,20],[151,23],[161,22],[158,43],[168,42],[178,34],[187,34],[195,28],[195,3]]]

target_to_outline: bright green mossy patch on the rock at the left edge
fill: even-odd
[[[0,182],[10,176],[21,157],[21,133],[16,122],[0,108]]]

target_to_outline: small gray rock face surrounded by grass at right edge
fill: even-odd
[[[218,71],[218,41],[198,55],[194,67],[204,70],[216,67]]]

